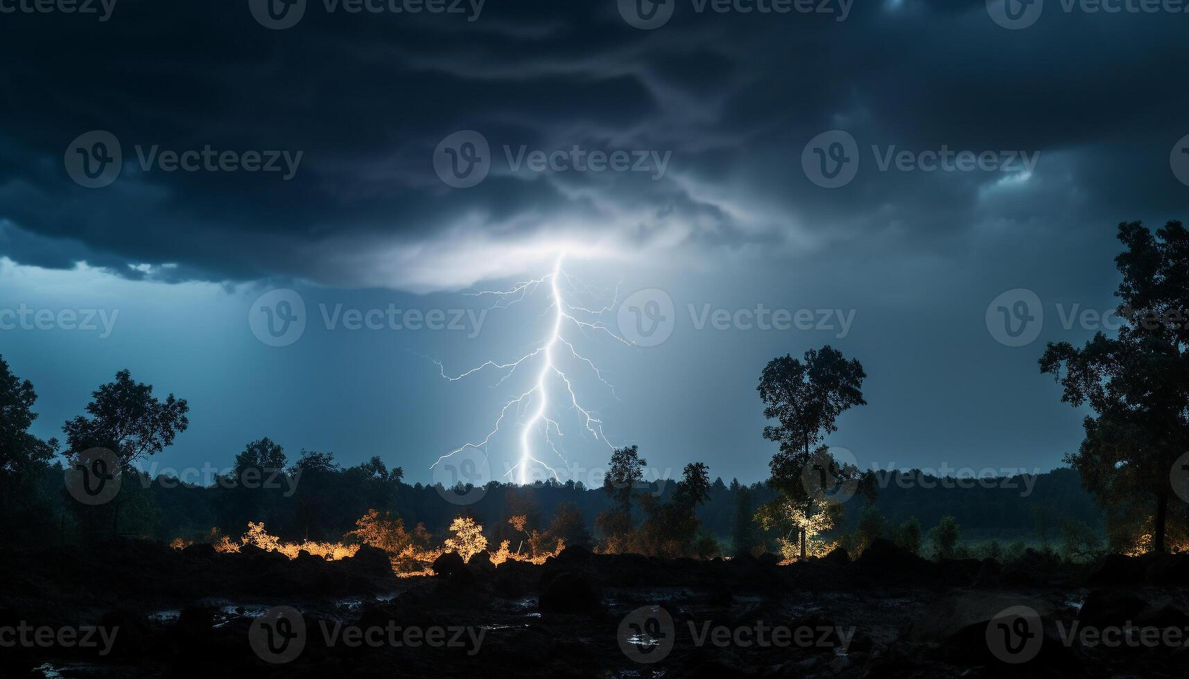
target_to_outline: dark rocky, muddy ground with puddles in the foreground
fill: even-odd
[[[1070,566],[1030,551],[1001,566],[876,542],[792,566],[570,548],[542,566],[480,553],[435,568],[397,579],[371,548],[290,561],[128,540],[10,554],[0,675],[1080,678],[1189,664],[1169,631],[1189,629],[1182,557]],[[109,643],[61,637],[90,625]],[[1133,642],[1105,643],[1113,628]]]

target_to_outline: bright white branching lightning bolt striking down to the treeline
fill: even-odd
[[[499,433],[501,428],[504,426],[504,421],[509,419],[509,414],[511,414],[511,419],[518,420],[523,417],[523,414],[527,411],[527,419],[520,422],[520,459],[504,476],[510,476],[515,472],[516,482],[524,485],[529,482],[530,469],[533,465],[537,465],[547,470],[553,478],[561,480],[558,476],[558,471],[541,459],[546,455],[539,457],[539,454],[534,454],[534,442],[543,442],[542,447],[547,447],[554,457],[561,459],[562,463],[567,463],[565,455],[562,454],[562,447],[559,442],[562,438],[561,425],[559,425],[555,419],[549,416],[549,396],[552,389],[558,390],[559,407],[578,413],[579,420],[584,425],[584,435],[590,434],[594,438],[594,440],[602,441],[609,448],[615,448],[615,446],[611,445],[611,442],[608,441],[606,436],[603,434],[603,420],[598,416],[598,413],[584,407],[579,402],[578,395],[574,392],[573,382],[558,365],[556,354],[562,352],[562,350],[568,351],[570,356],[573,357],[574,360],[589,369],[594,377],[611,391],[611,395],[615,396],[615,388],[604,378],[603,371],[596,366],[592,360],[578,352],[574,344],[566,339],[564,331],[566,327],[572,326],[583,335],[589,337],[590,333],[606,334],[624,345],[633,346],[633,342],[619,337],[611,327],[600,320],[603,314],[610,312],[616,307],[616,304],[618,304],[619,290],[616,288],[611,303],[602,308],[592,309],[581,306],[572,306],[562,295],[564,285],[573,290],[575,296],[594,295],[596,291],[577,278],[572,278],[565,272],[565,270],[562,270],[561,264],[565,258],[565,251],[560,252],[553,264],[553,271],[541,278],[516,283],[508,290],[480,290],[471,293],[471,295],[492,296],[496,301],[491,308],[507,309],[530,297],[543,287],[548,291],[549,306],[542,316],[552,313],[553,318],[551,332],[536,342],[530,351],[520,358],[503,363],[487,360],[458,375],[452,376],[447,373],[441,361],[434,361],[438,365],[442,378],[449,382],[457,382],[459,379],[471,377],[487,369],[498,371],[502,375],[496,385],[503,384],[516,372],[518,367],[534,359],[540,358],[540,366],[537,367],[536,378],[531,386],[503,404],[499,409],[499,415],[496,417],[495,425],[491,430],[483,436],[483,439],[464,444],[453,451],[449,451],[445,455],[438,458],[434,464],[429,465],[429,469],[438,466],[443,460],[449,459],[451,457],[466,449],[482,451],[483,454],[486,455],[492,439]]]

